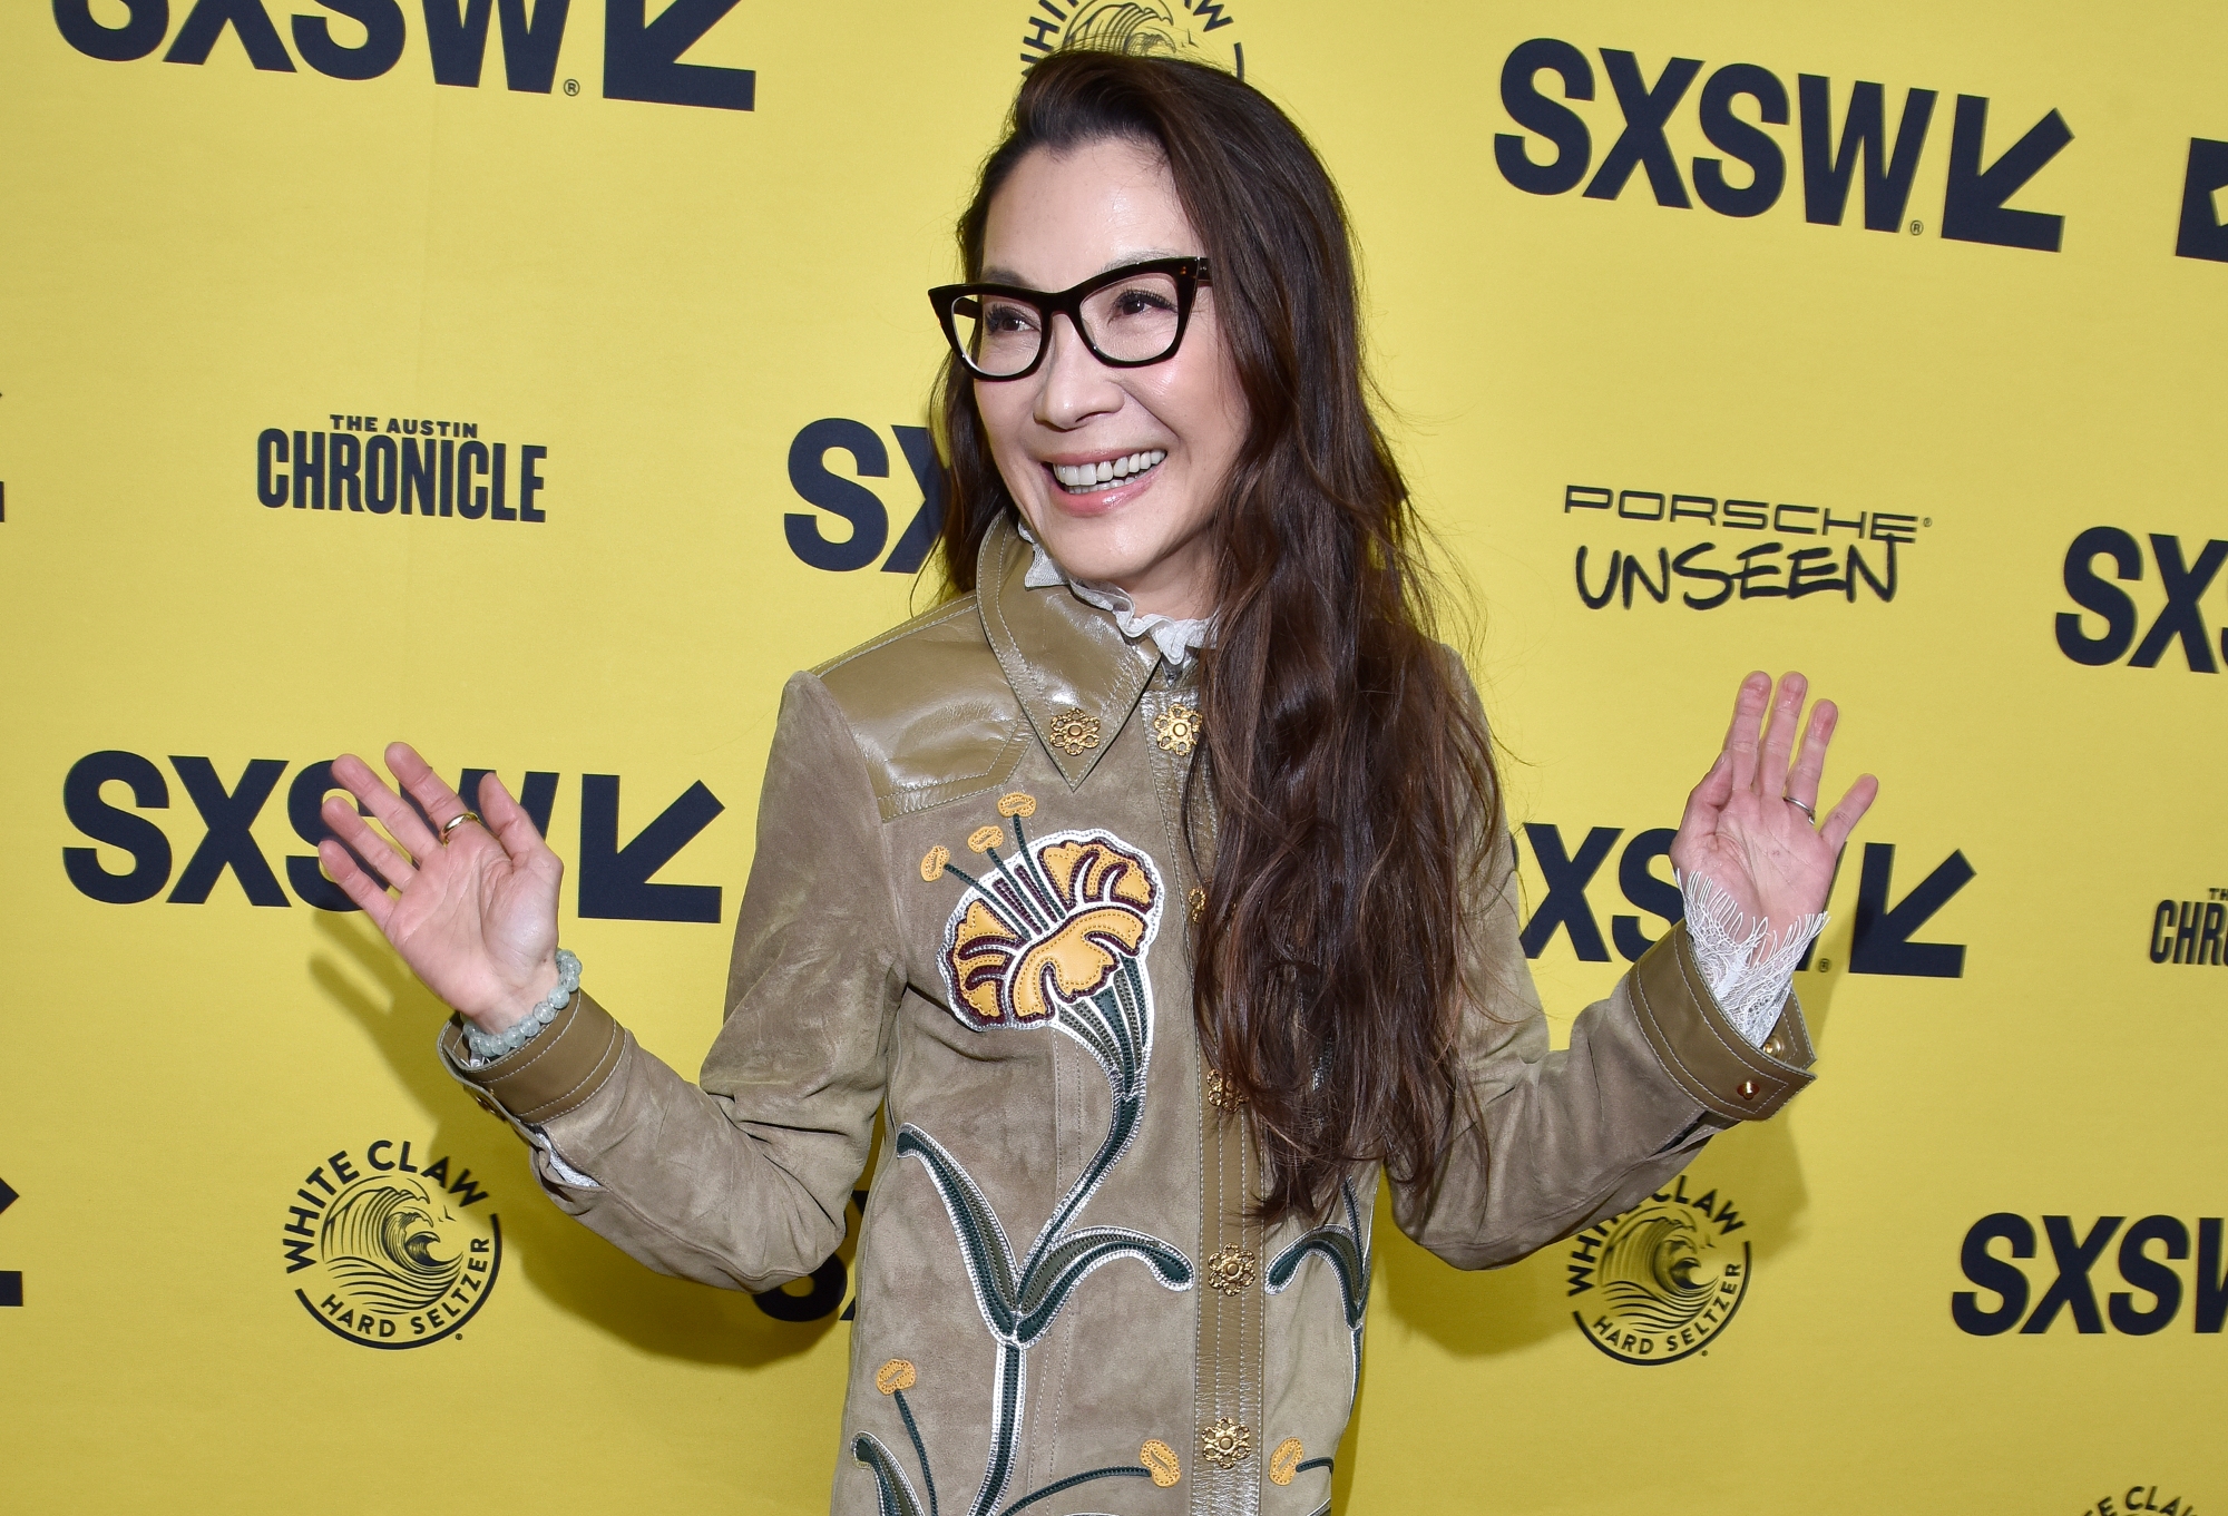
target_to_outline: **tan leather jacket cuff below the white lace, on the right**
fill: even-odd
[[[1633,963],[1633,1010],[1664,1072],[1696,1104],[1727,1121],[1760,1121],[1796,1097],[1816,1075],[1809,1028],[1794,992],[1762,1048],[1727,1021],[1693,961],[1680,923]]]

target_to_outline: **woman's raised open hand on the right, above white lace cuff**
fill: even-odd
[[[1831,700],[1811,707],[1802,749],[1794,751],[1807,693],[1809,680],[1800,673],[1782,678],[1776,696],[1769,673],[1740,682],[1733,729],[1724,733],[1718,762],[1687,796],[1671,840],[1671,865],[1682,878],[1707,878],[1749,923],[1771,923],[1773,936],[1825,910],[1840,847],[1880,791],[1880,783],[1863,774],[1840,805],[1811,820],[1840,711]]]

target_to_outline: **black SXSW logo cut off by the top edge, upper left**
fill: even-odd
[[[590,0],[593,2],[593,0]],[[753,69],[717,69],[682,62],[737,0],[673,0],[655,20],[648,0],[604,0],[604,98],[653,100],[659,105],[702,105],[746,111],[753,105],[758,74]],[[178,0],[183,20],[172,31],[172,0],[107,0],[96,13],[96,0],[53,0],[53,25],[62,40],[87,58],[131,62],[145,58],[163,40],[163,62],[207,62],[218,40],[229,33],[247,51],[247,60],[270,74],[294,74],[294,58],[325,78],[379,78],[403,56],[410,20],[403,0],[296,0],[319,13],[287,16],[294,49],[287,51],[265,0]],[[432,58],[437,85],[477,89],[488,58],[492,31],[501,36],[504,82],[524,94],[548,94],[557,78],[557,51],[564,45],[573,0],[419,0],[414,7],[426,27],[426,51]],[[123,25],[109,20],[123,11]],[[334,20],[339,31],[334,33]],[[361,31],[361,40],[354,40]],[[566,94],[579,94],[577,80],[564,82]]]

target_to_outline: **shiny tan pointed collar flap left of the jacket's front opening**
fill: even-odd
[[[1114,747],[1159,664],[1065,584],[1027,589],[1034,553],[1009,515],[983,535],[976,606],[998,667],[1069,789]]]

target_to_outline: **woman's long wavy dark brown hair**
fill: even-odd
[[[1401,1182],[1444,1164],[1466,1097],[1455,1028],[1466,903],[1497,820],[1491,749],[1435,640],[1419,526],[1370,410],[1346,210],[1261,91],[1174,58],[1045,58],[960,216],[967,279],[1014,165],[1103,138],[1167,161],[1250,408],[1214,515],[1201,684],[1219,825],[1194,1017],[1203,1057],[1245,1099],[1263,1219],[1319,1217],[1359,1164]],[[938,419],[942,568],[965,593],[1014,499],[956,359]]]

